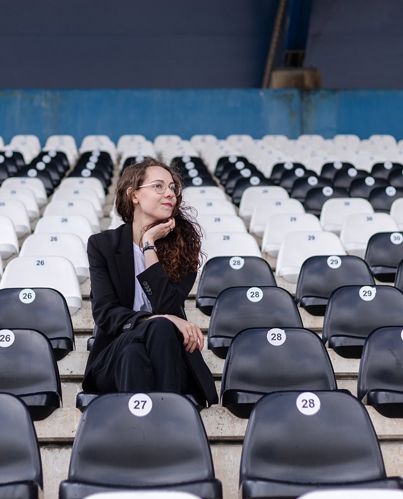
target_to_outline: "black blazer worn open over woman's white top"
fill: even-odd
[[[131,223],[90,236],[87,244],[90,263],[92,315],[98,331],[88,357],[83,389],[94,391],[92,366],[101,353],[117,336],[136,326],[136,321],[150,315],[132,309],[135,298],[135,265]],[[183,317],[181,307],[189,294],[196,273],[171,282],[158,262],[138,276],[155,314]],[[208,405],[218,403],[214,378],[199,350],[183,352],[199,389]]]

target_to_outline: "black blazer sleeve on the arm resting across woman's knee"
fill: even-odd
[[[90,264],[92,315],[95,324],[106,334],[120,335],[136,325],[147,311],[135,311],[120,304],[113,286],[105,255],[100,251],[94,236],[88,239],[88,261]]]

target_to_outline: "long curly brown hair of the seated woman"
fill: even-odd
[[[123,222],[132,222],[135,212],[131,201],[131,192],[136,191],[144,182],[146,170],[150,166],[160,166],[169,171],[173,181],[181,186],[181,192],[176,198],[176,204],[172,213],[175,218],[175,230],[166,237],[155,242],[158,259],[171,281],[179,281],[180,278],[196,272],[203,260],[201,251],[201,228],[196,222],[192,208],[182,205],[182,182],[179,174],[170,166],[154,158],[147,158],[141,163],[126,166],[117,183],[115,211]],[[166,220],[159,220],[148,227],[158,225]]]

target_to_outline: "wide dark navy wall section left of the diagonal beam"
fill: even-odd
[[[0,0],[0,88],[260,87],[278,0]]]

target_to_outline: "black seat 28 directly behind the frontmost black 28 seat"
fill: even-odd
[[[223,369],[221,404],[250,416],[264,395],[282,390],[336,390],[319,336],[302,328],[245,329],[232,340]]]

